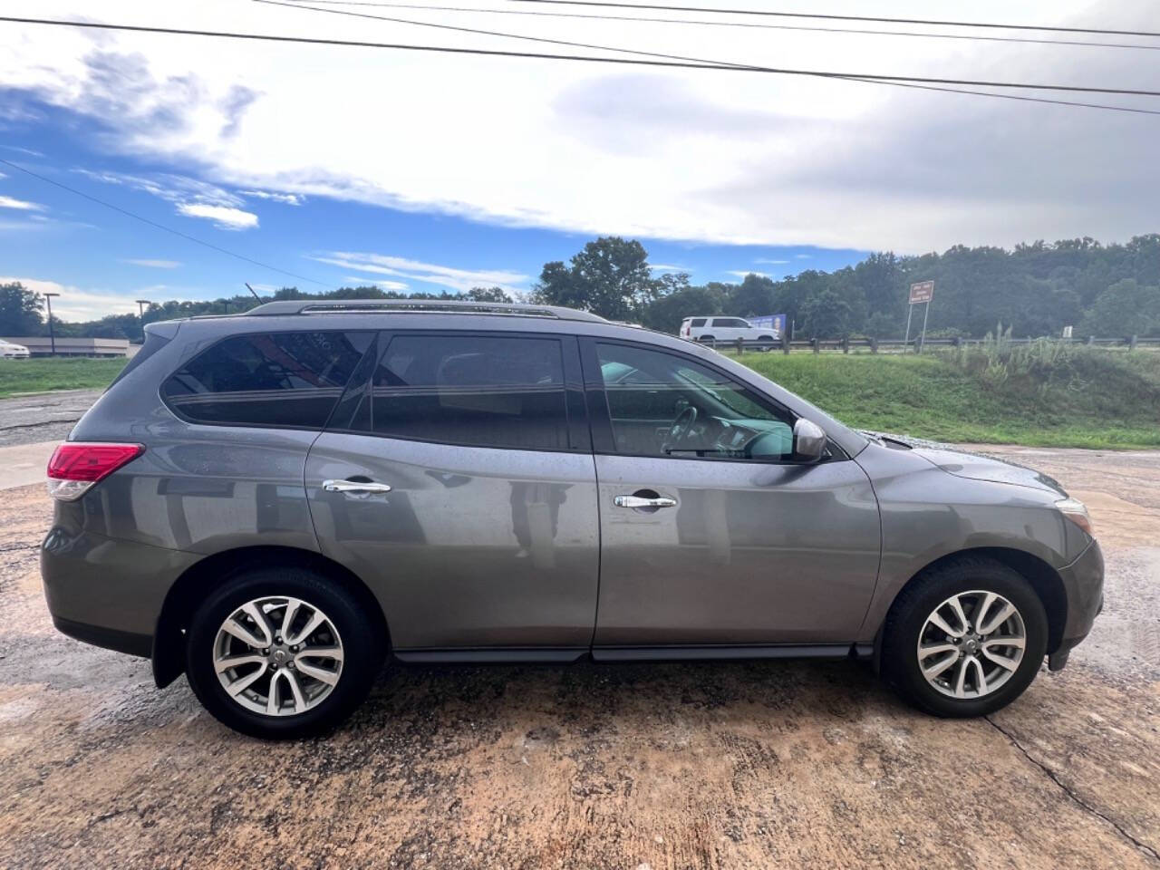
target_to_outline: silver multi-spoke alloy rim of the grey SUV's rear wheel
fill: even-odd
[[[342,675],[342,638],[307,601],[247,601],[213,639],[213,672],[237,704],[262,716],[297,716],[329,697]]]

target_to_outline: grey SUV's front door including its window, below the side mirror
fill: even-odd
[[[600,492],[595,646],[850,643],[878,506],[836,447],[796,464],[795,418],[676,351],[583,343]]]

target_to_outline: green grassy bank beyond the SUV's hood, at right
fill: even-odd
[[[1160,445],[1160,354],[1073,354],[994,384],[949,356],[745,354],[756,371],[858,429],[950,442]]]

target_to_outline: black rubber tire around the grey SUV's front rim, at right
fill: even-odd
[[[922,675],[918,644],[928,616],[952,595],[993,592],[1018,610],[1025,630],[1023,658],[1006,683],[983,697],[956,698],[940,693]],[[1035,680],[1047,651],[1047,615],[1031,585],[1016,571],[987,558],[963,558],[930,568],[894,601],[883,626],[883,677],[904,699],[934,716],[986,716],[1020,695]]]

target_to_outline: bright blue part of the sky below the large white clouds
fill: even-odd
[[[196,165],[90,151],[86,144],[104,133],[99,125],[53,107],[29,101],[23,106],[34,117],[6,123],[0,146],[5,160],[195,238],[314,278],[326,288],[378,281],[384,288],[427,292],[454,292],[477,284],[528,290],[545,262],[567,260],[593,238],[327,196],[264,198],[242,187],[208,184],[215,190],[206,197],[194,183],[201,181]],[[283,285],[324,289],[147,226],[12,167],[0,166],[0,172],[6,175],[0,179],[0,197],[37,206],[2,208],[6,201],[0,198],[0,274],[5,276],[154,300],[230,296],[245,292],[246,281],[260,291]],[[225,229],[229,224],[181,210],[183,203],[188,210],[188,203],[198,198],[216,202],[218,191],[234,197],[237,204],[211,209],[234,209],[253,215],[254,220],[233,218],[239,227]],[[804,269],[832,270],[865,254],[806,245],[638,238],[658,271],[688,271],[694,283],[737,282],[747,271],[780,278]],[[73,309],[67,290],[56,306],[70,319]],[[73,317],[90,313],[86,299]]]

